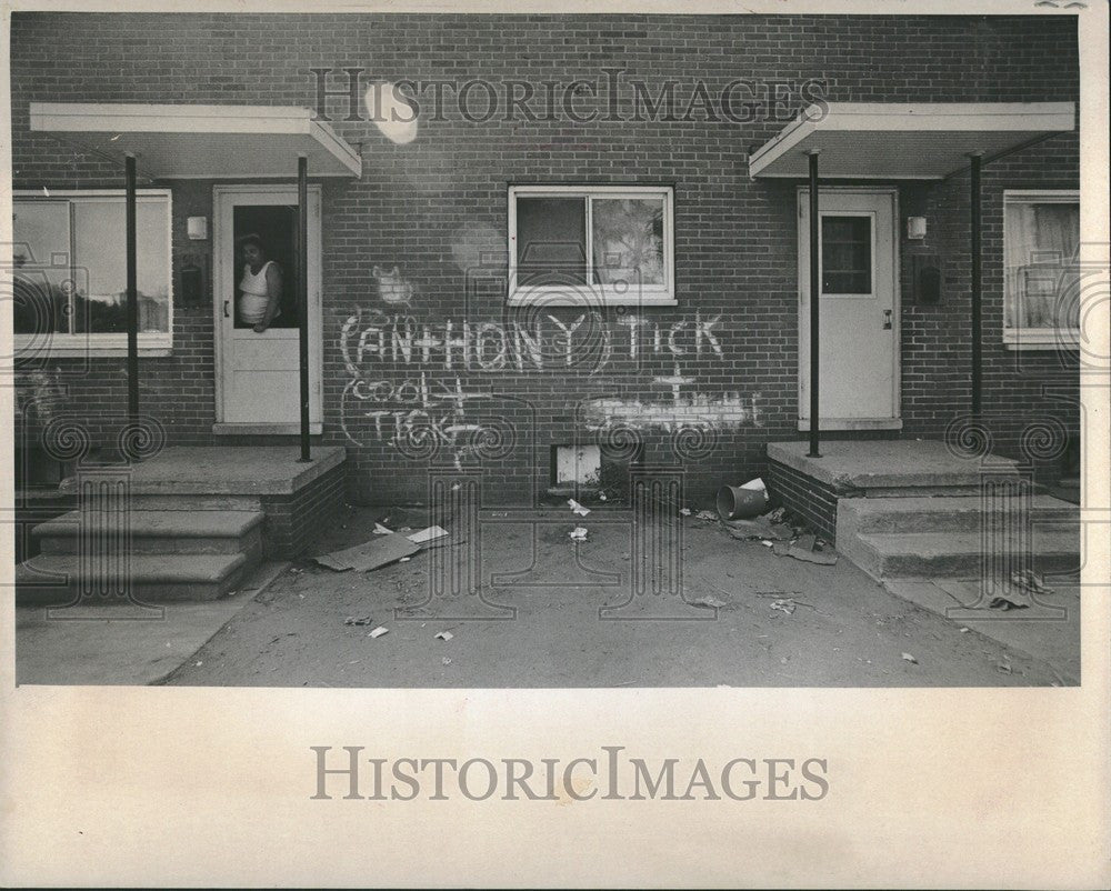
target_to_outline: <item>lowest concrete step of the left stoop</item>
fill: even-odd
[[[216,600],[234,590],[258,561],[258,555],[246,553],[134,555],[127,562],[127,572],[130,592],[140,601]],[[98,591],[102,587],[98,582],[111,578],[112,569],[93,568],[92,578],[82,579],[81,559],[77,554],[39,554],[16,568],[16,602],[20,605],[70,602],[87,584]],[[114,601],[114,598],[103,600]]]

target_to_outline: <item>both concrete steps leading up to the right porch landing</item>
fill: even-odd
[[[842,498],[837,547],[878,581],[977,579],[984,560],[1011,547],[1039,572],[1069,573],[1080,565],[1080,514],[1050,495],[1030,499],[1030,528],[1017,522],[1018,504],[995,502],[985,514],[979,495],[909,494]]]

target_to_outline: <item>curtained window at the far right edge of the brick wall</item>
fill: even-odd
[[[1003,193],[1003,342],[1079,342],[1075,264],[1080,199],[1071,191]]]

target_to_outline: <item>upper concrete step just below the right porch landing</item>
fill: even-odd
[[[999,519],[1019,509],[1017,499],[997,502]],[[1075,504],[1034,495],[1029,501],[1031,521],[1038,530],[1078,527]],[[838,501],[837,538],[869,532],[975,532],[981,528],[983,502],[964,498],[842,498]],[[993,511],[997,513],[997,511]]]

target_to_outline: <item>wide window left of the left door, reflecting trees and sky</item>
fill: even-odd
[[[51,356],[127,349],[127,230],[122,191],[17,194],[16,346]],[[140,349],[172,343],[170,193],[136,202]]]

